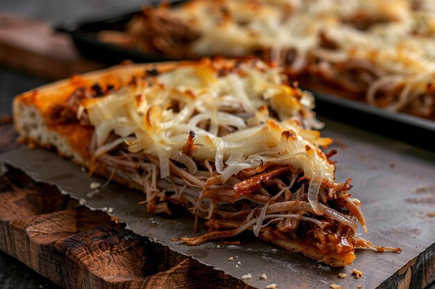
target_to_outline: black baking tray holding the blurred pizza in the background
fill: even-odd
[[[179,5],[185,1],[171,1]],[[151,5],[156,5],[154,1]],[[101,30],[122,30],[124,25],[137,14],[138,10],[120,15],[117,11],[100,12],[92,21],[76,24],[63,24],[58,31],[68,33],[77,49],[86,57],[108,64],[118,64],[124,60],[133,62],[161,62],[174,60],[162,55],[150,55],[136,49],[128,49],[114,44],[100,42],[97,33]],[[350,100],[332,94],[315,91],[315,111],[319,116],[327,116],[343,123],[356,125],[378,134],[393,137],[407,143],[433,150],[435,143],[435,121],[421,119],[409,114],[388,112],[366,103]]]

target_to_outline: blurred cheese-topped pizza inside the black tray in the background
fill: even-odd
[[[172,58],[256,55],[308,88],[435,120],[432,0],[193,0],[99,39]]]

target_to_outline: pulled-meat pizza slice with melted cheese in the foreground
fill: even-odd
[[[334,266],[376,247],[350,179],[337,182],[313,96],[258,60],[130,64],[15,98],[22,139],[206,220],[188,245],[252,234]],[[400,250],[400,249],[395,249]]]

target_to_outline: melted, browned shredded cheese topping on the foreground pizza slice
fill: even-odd
[[[95,126],[95,154],[125,142],[131,152],[158,157],[161,177],[170,175],[170,159],[189,173],[211,159],[223,182],[268,162],[290,164],[313,179],[317,198],[322,179],[334,179],[334,164],[317,148],[331,140],[310,130],[320,125],[311,112],[313,96],[285,85],[278,69],[255,63],[220,76],[203,61],[83,102],[81,111]],[[117,139],[106,143],[111,132]],[[188,157],[182,150],[190,134],[195,143]]]

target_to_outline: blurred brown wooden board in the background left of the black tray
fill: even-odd
[[[101,69],[85,60],[67,35],[43,22],[0,12],[0,64],[46,80]]]

